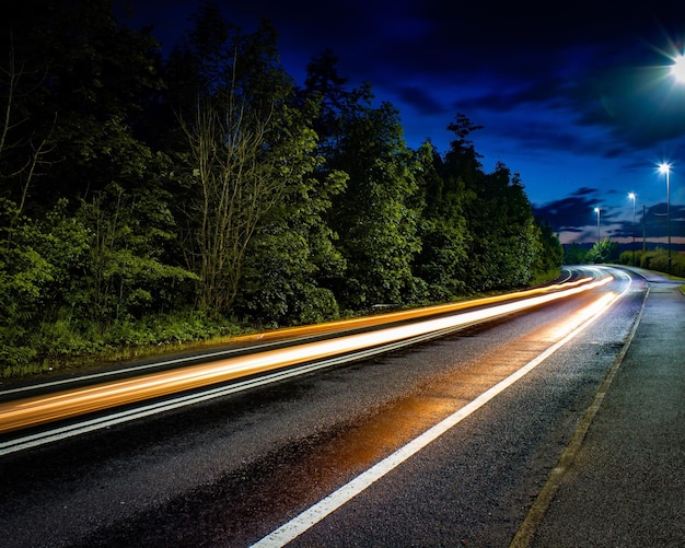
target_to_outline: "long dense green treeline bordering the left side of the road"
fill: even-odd
[[[554,276],[561,247],[457,114],[446,152],[277,32],[200,7],[163,57],[107,0],[9,2],[0,363],[316,323]]]

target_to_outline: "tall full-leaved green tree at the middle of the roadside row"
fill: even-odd
[[[349,175],[332,226],[348,269],[340,295],[352,308],[416,300],[411,264],[420,250],[418,186],[397,110],[388,103],[350,113],[332,164]]]

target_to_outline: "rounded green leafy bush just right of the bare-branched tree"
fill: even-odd
[[[289,187],[253,238],[236,310],[260,325],[288,325],[337,318],[337,300],[326,280],[346,268],[335,234],[323,215],[345,188],[332,173],[322,184],[303,177]]]

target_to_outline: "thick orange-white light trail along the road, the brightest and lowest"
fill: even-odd
[[[522,311],[544,303],[566,299],[611,282],[612,276],[584,278],[556,288],[523,291],[513,295],[537,295],[507,302],[485,310],[464,312],[458,315],[426,319],[406,326],[388,327],[372,333],[348,335],[335,339],[306,342],[294,347],[269,350],[249,355],[233,357],[210,363],[178,368],[173,371],[149,373],[133,378],[101,383],[72,388],[51,395],[35,396],[0,404],[0,433],[35,427],[56,420],[101,411],[113,407],[135,404],[232,381],[240,377],[267,373],[293,364],[323,360],[363,348],[388,345],[398,340],[419,337],[432,331],[457,328],[496,316]],[[554,291],[554,292],[549,292]],[[541,294],[542,293],[542,294]],[[498,295],[477,301],[501,302],[510,295]],[[465,303],[431,307],[433,313],[464,307]],[[474,306],[474,302],[471,302]],[[413,312],[413,311],[409,311]]]

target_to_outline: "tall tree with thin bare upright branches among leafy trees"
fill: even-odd
[[[255,288],[271,288],[264,306],[278,319],[288,300],[282,277],[298,269],[263,268],[271,266],[278,246],[295,245],[290,231],[300,229],[291,224],[298,208],[289,202],[301,205],[313,191],[306,182],[316,166],[316,135],[307,120],[312,107],[293,106],[294,86],[278,63],[276,34],[266,21],[245,34],[208,4],[179,58],[186,70],[195,66],[200,84],[194,118],[182,119],[190,174],[186,252],[199,277],[198,304],[225,314],[241,300],[243,310],[259,315],[256,296],[265,295]],[[309,242],[307,234],[298,237]],[[306,253],[291,258],[310,260]]]

